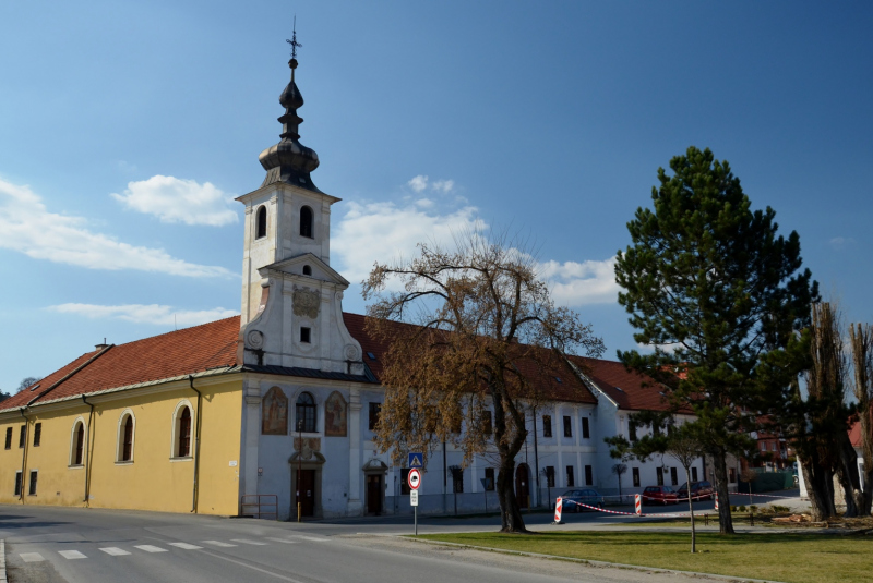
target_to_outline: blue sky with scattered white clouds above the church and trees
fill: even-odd
[[[611,357],[635,344],[610,260],[695,145],[873,321],[870,3],[31,0],[0,3],[0,390],[238,313],[229,201],[278,139],[295,13],[349,280],[475,220],[519,231]]]

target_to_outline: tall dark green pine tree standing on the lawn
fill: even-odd
[[[653,354],[620,352],[629,367],[658,379],[679,372],[669,398],[697,416],[714,461],[722,533],[732,533],[727,457],[754,447],[758,359],[801,329],[817,286],[801,267],[800,239],[777,235],[775,211],[752,210],[727,161],[690,147],[658,169],[653,208],[627,223],[619,252],[619,302]]]

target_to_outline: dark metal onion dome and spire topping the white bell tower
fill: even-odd
[[[274,182],[285,182],[301,189],[321,192],[309,173],[319,167],[319,155],[315,150],[300,144],[298,129],[303,122],[303,118],[297,114],[297,109],[303,106],[303,96],[294,82],[294,73],[297,69],[297,59],[288,61],[291,68],[291,81],[279,96],[279,104],[285,108],[285,114],[278,121],[282,123],[282,141],[266,148],[261,153],[259,159],[261,166],[266,170],[266,178],[261,186],[273,184]]]

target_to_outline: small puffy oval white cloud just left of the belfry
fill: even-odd
[[[234,197],[211,182],[199,184],[158,174],[129,182],[124,194],[112,193],[112,197],[132,210],[156,216],[160,222],[222,227],[239,220],[230,208]]]

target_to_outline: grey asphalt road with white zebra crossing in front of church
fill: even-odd
[[[711,502],[695,511],[711,512]],[[683,505],[654,512],[684,510]],[[646,507],[646,511],[653,510]],[[534,530],[639,520],[585,512],[528,514]],[[494,531],[497,517],[427,518],[419,533]],[[140,582],[667,582],[674,575],[426,545],[409,517],[308,522],[0,505],[11,583]],[[691,580],[689,580],[691,581]]]

